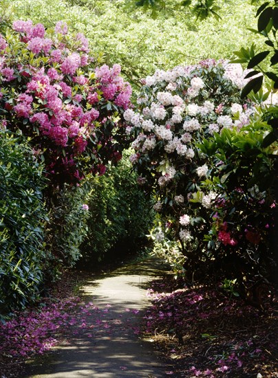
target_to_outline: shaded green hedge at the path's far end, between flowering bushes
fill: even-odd
[[[109,167],[104,176],[89,181],[92,188],[86,201],[89,218],[87,236],[81,245],[83,260],[113,258],[115,247],[118,253],[136,252],[146,243],[153,212],[136,177],[125,156],[118,166]]]

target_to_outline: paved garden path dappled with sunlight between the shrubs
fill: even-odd
[[[161,273],[156,261],[125,265],[97,279],[82,291],[96,311],[86,319],[83,332],[70,335],[43,364],[31,366],[28,378],[168,377],[169,366],[158,361],[151,343],[140,340],[138,327],[148,305],[148,282]],[[31,373],[32,372],[32,373]]]

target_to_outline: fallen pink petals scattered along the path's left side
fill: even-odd
[[[72,297],[16,313],[5,324],[0,323],[0,353],[25,359],[48,351],[61,340],[65,342],[70,335],[85,333],[93,338],[98,332],[110,334],[114,329],[121,330],[122,314],[111,319],[110,308],[111,304],[106,304],[99,309],[93,302],[81,305],[79,298]],[[130,316],[139,313],[138,309],[122,311],[129,312]],[[138,335],[140,328],[132,327],[130,321],[125,322],[125,329],[128,326],[131,333]],[[125,366],[121,368],[126,369]]]

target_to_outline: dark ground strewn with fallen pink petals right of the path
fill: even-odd
[[[266,351],[275,345],[271,309],[261,315],[241,298],[228,298],[220,285],[175,289],[177,283],[165,282],[153,281],[147,293],[152,306],[145,312],[144,333],[164,342],[167,357],[177,364],[174,374],[241,377],[254,364],[266,366]]]

